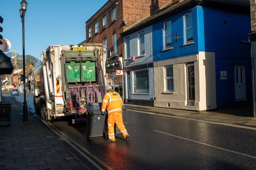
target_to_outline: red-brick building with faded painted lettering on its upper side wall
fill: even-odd
[[[86,40],[90,43],[104,43],[106,48],[106,78],[122,96],[123,37],[125,28],[152,14],[162,6],[178,0],[108,0],[86,22]],[[102,62],[105,62],[103,59]]]

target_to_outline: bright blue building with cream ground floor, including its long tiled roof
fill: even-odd
[[[252,101],[249,0],[179,1],[123,35],[147,26],[155,107],[204,111]]]

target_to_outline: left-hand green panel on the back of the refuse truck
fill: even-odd
[[[66,76],[68,82],[81,82],[80,62],[66,62]]]

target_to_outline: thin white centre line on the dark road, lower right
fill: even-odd
[[[158,132],[158,133],[163,133],[163,134],[166,134],[166,135],[169,135],[169,136],[173,136],[173,137],[175,137],[175,138],[183,139],[183,140],[186,140],[186,141],[190,141],[190,142],[194,142],[194,143],[198,143],[198,144],[203,144],[203,145],[206,145],[206,146],[209,146],[209,147],[213,147],[213,148],[216,148],[216,149],[219,149],[219,150],[224,150],[224,151],[227,151],[227,152],[236,153],[236,154],[238,154],[238,155],[247,156],[247,157],[249,157],[249,158],[256,159],[256,156],[248,155],[248,154],[245,154],[245,153],[236,152],[236,151],[229,150],[229,149],[225,149],[225,148],[222,148],[222,147],[217,147],[217,146],[214,146],[214,145],[211,145],[211,144],[207,144],[207,143],[203,143],[203,142],[194,141],[194,140],[191,140],[191,139],[187,139],[187,138],[183,138],[183,137],[180,137],[180,136],[172,135],[172,134],[170,134],[170,133],[161,132],[161,131],[159,131],[159,130],[153,130],[153,131],[154,131],[154,132]]]

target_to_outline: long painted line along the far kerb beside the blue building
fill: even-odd
[[[135,110],[132,110],[132,109],[127,109],[127,110],[128,111],[135,111]],[[165,116],[165,117],[172,117],[172,118],[176,118],[176,119],[185,119],[185,120],[192,120],[192,121],[197,121],[197,122],[205,122],[205,123],[211,123],[211,124],[215,124],[215,125],[224,125],[224,126],[231,126],[231,127],[239,127],[239,128],[244,128],[244,129],[256,130],[256,127],[248,127],[248,126],[243,126],[243,125],[233,125],[233,124],[228,124],[228,123],[212,122],[212,121],[207,121],[207,120],[192,119],[192,118],[172,116],[172,115],[166,115],[166,114],[161,114],[161,113],[145,112],[145,111],[135,111],[135,112],[146,113],[146,114],[151,114],[151,115],[158,115],[158,116]]]

